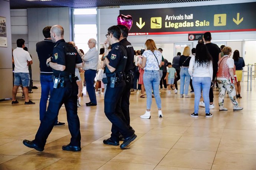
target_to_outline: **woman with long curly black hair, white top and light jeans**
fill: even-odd
[[[194,113],[192,117],[198,117],[201,89],[205,104],[206,117],[213,116],[210,113],[209,91],[213,79],[213,62],[206,45],[200,43],[196,46],[196,56],[191,57],[188,72],[192,77],[192,84],[195,92]]]

